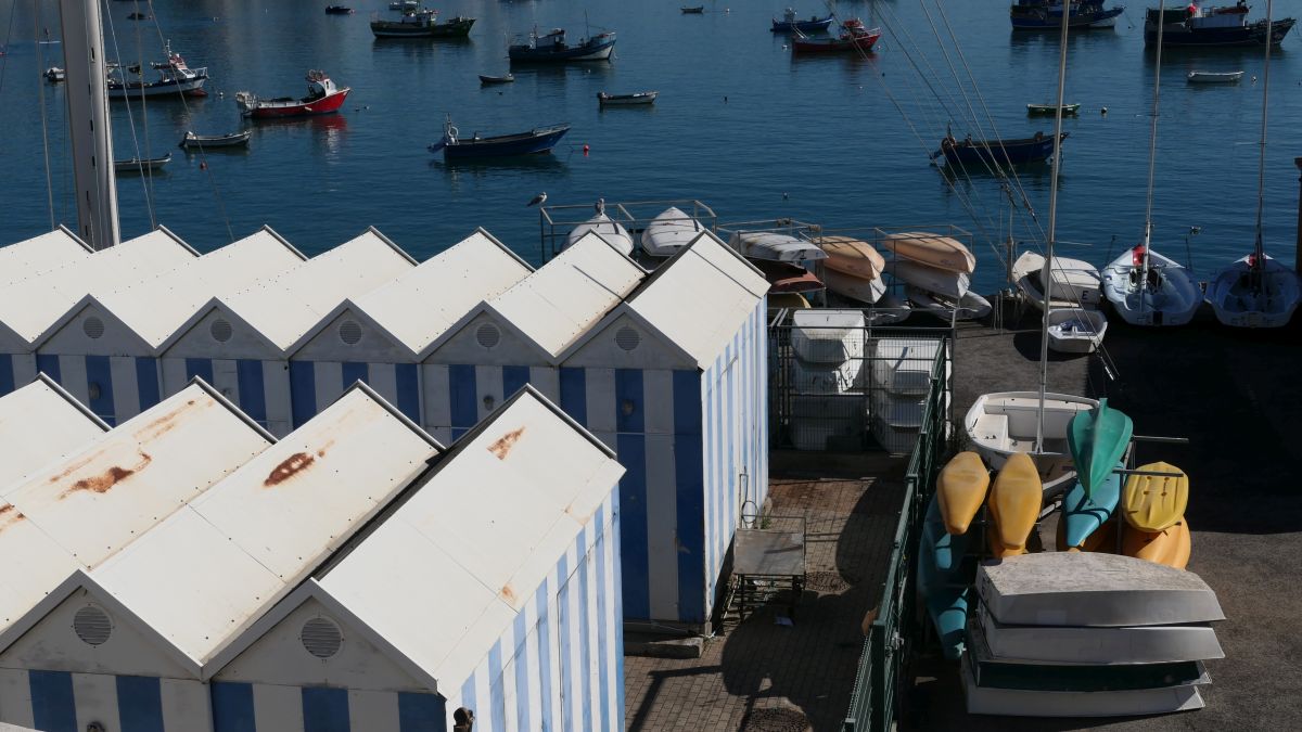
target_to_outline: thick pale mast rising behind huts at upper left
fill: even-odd
[[[64,69],[73,176],[77,189],[77,233],[91,249],[116,246],[117,182],[113,178],[113,141],[109,134],[104,66],[104,31],[99,3],[59,0],[64,35]],[[85,91],[83,91],[85,90]]]

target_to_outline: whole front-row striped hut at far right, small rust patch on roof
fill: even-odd
[[[214,732],[624,728],[622,468],[525,389],[219,659]]]

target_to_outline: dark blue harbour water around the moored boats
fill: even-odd
[[[721,220],[958,225],[975,234],[978,289],[1004,285],[1000,242],[1010,216],[1018,240],[1040,238],[1027,210],[1039,228],[1048,223],[1048,168],[1019,175],[1026,202],[1014,210],[997,178],[950,186],[927,154],[947,128],[958,137],[1049,132],[1052,119],[1029,119],[1025,106],[1053,99],[1056,33],[1014,34],[1004,1],[842,0],[840,17],[884,27],[876,52],[802,59],[768,30],[785,1],[704,1],[702,16],[681,14],[678,0],[431,5],[444,17],[478,18],[471,38],[458,43],[375,40],[370,16],[389,14],[380,0],[355,1],[353,16],[326,16],[327,0],[156,0],[156,21],[145,22],[126,20],[135,3],[105,0],[113,56],[161,60],[171,39],[191,66],[211,74],[207,99],[113,103],[117,158],[173,152],[152,180],[120,178],[124,236],[158,221],[210,250],[268,224],[314,254],[375,225],[426,258],[482,225],[536,263],[539,219],[525,203],[539,191],[548,203],[697,198]],[[1259,5],[1254,17],[1264,12]],[[1276,3],[1277,13],[1297,5]],[[807,16],[823,7],[797,9]],[[1073,242],[1064,254],[1099,266],[1143,233],[1155,64],[1143,46],[1142,14],[1141,5],[1130,7],[1115,30],[1069,40],[1066,96],[1082,112],[1065,124],[1057,237]],[[517,68],[516,83],[480,87],[478,74],[508,70],[508,39],[535,25],[566,27],[572,40],[587,29],[616,30],[616,59]],[[55,3],[0,1],[3,244],[76,216],[66,90],[39,78],[44,66],[62,65],[60,46],[34,42],[44,27],[57,39]],[[1292,34],[1272,57],[1266,171],[1267,249],[1289,262],[1298,201],[1293,156],[1302,154],[1299,43]],[[1262,66],[1259,51],[1168,49],[1163,57],[1154,247],[1191,259],[1202,277],[1253,245]],[[207,169],[176,148],[186,129],[219,134],[247,125],[236,91],[301,95],[314,68],[353,89],[341,115],[254,124],[247,151],[210,152]],[[1197,86],[1185,81],[1193,69],[1246,73],[1238,85]],[[602,111],[595,99],[602,90],[648,89],[660,91],[654,108]],[[557,121],[573,130],[549,159],[445,165],[426,151],[445,115],[462,134]],[[1190,227],[1200,233],[1186,237]]]

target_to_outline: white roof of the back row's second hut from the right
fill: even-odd
[[[595,233],[586,234],[516,287],[488,301],[552,356],[587,332],[646,276]]]

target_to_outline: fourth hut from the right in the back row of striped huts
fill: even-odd
[[[293,414],[288,350],[345,298],[414,266],[372,228],[279,276],[212,298],[159,348],[163,393],[201,376],[273,435],[288,434]],[[352,383],[337,376],[340,387]]]

